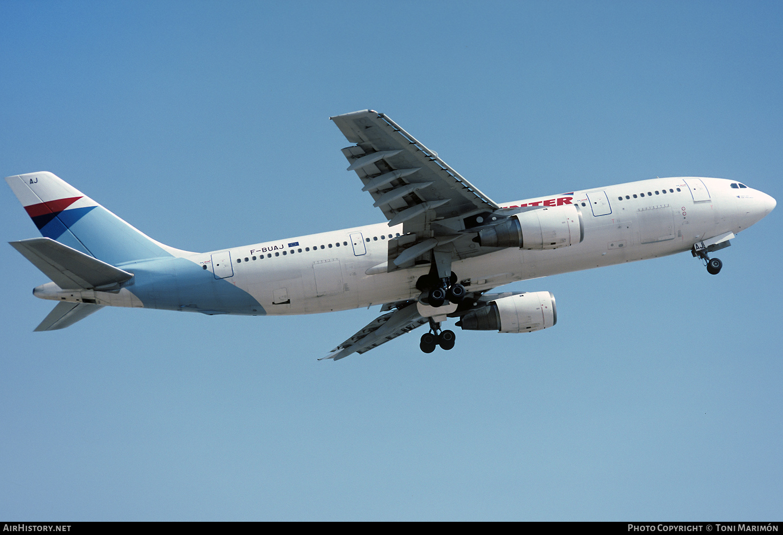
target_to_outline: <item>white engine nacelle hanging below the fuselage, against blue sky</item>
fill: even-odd
[[[457,322],[467,331],[533,332],[557,323],[551,292],[525,292],[490,301]]]

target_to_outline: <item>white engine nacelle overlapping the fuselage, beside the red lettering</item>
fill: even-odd
[[[514,214],[506,221],[478,232],[478,244],[544,250],[570,246],[582,242],[584,237],[582,211],[575,204],[567,204]]]

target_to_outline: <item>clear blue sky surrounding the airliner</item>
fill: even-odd
[[[781,199],[778,2],[2,2],[3,176],[186,250],[383,220],[331,115],[372,108],[496,201],[655,176]],[[9,189],[7,241],[37,234]],[[2,250],[5,519],[780,519],[781,211],[509,285],[553,329],[316,361],[377,314],[106,308],[34,333]],[[777,266],[777,267],[776,267]]]

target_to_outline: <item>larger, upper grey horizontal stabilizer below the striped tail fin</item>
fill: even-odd
[[[62,289],[119,289],[122,282],[133,277],[128,271],[53,239],[33,238],[9,243]]]

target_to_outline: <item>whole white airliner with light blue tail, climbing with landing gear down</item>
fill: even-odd
[[[557,322],[550,292],[496,286],[690,251],[710,253],[772,211],[775,199],[723,178],[652,178],[496,203],[383,113],[330,117],[352,145],[348,171],[387,221],[193,253],[151,239],[49,172],[5,178],[43,237],[10,242],[52,282],[36,331],[102,307],[201,314],[314,314],[381,305],[322,358],[363,354],[428,325],[420,349],[464,330],[534,332]],[[319,359],[320,360],[320,359]]]

